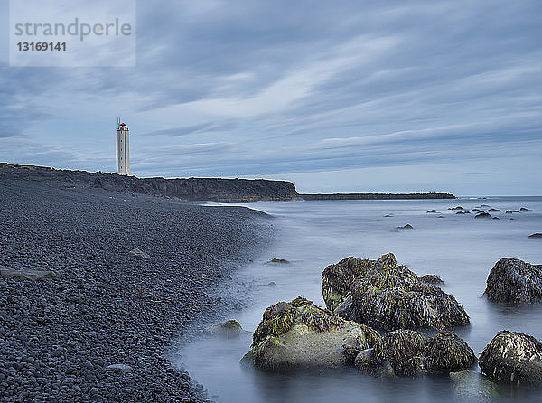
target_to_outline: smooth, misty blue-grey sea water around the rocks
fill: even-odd
[[[466,210],[481,205],[500,209],[500,220],[474,219]],[[500,258],[542,263],[542,197],[488,197],[424,201],[299,201],[247,205],[274,216],[276,241],[250,266],[238,270],[220,292],[241,301],[236,319],[253,332],[265,308],[298,295],[322,300],[322,270],[341,258],[378,258],[393,252],[397,262],[419,276],[435,274],[442,288],[463,305],[471,325],[454,331],[478,355],[500,330],[542,339],[542,305],[489,303],[482,293],[491,267]],[[526,207],[532,211],[505,214]],[[487,210],[488,207],[485,208]],[[427,213],[434,210],[438,213]],[[385,217],[390,215],[390,217]],[[509,220],[513,218],[514,220]],[[411,224],[413,230],[396,227]],[[285,258],[290,264],[267,263]],[[272,283],[271,285],[269,283]],[[463,400],[448,377],[378,379],[355,368],[270,373],[248,369],[239,359],[249,350],[251,334],[238,339],[199,337],[173,357],[218,402],[432,402]],[[474,393],[476,391],[474,390]],[[542,401],[542,389],[500,387],[501,401]]]

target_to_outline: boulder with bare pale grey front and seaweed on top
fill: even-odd
[[[378,341],[378,332],[297,297],[264,312],[242,361],[265,369],[339,367]]]

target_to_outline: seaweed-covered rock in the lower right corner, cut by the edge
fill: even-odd
[[[482,351],[481,371],[492,380],[542,382],[542,342],[528,334],[502,331]]]

